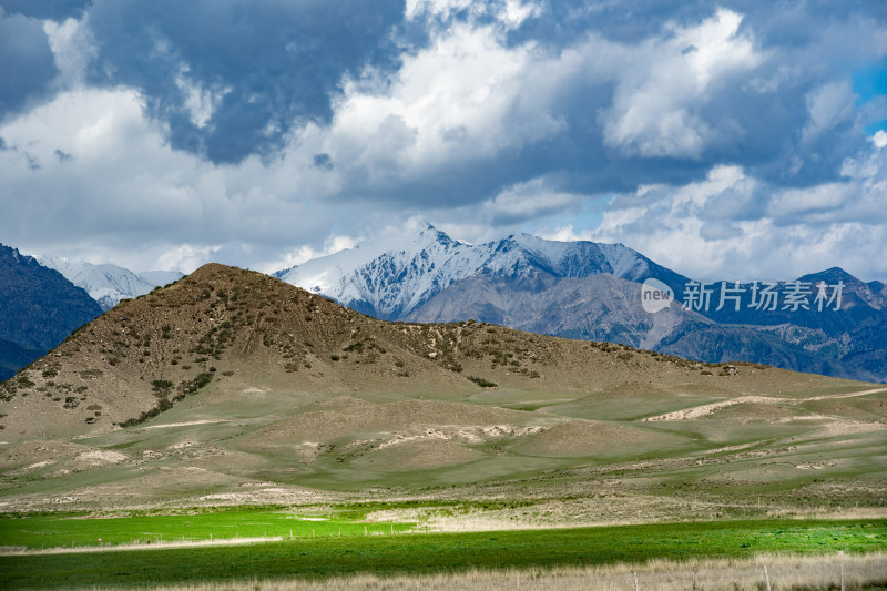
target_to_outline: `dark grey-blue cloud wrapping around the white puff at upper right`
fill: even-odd
[[[887,116],[884,108],[865,113],[846,113],[832,121],[823,133],[805,126],[810,119],[810,100],[822,86],[848,80],[850,63],[866,67],[883,55],[887,23],[887,3],[880,1],[804,3],[762,3],[725,0],[717,8],[743,17],[737,31],[748,35],[755,50],[765,59],[750,70],[724,75],[716,85],[705,89],[689,102],[687,109],[701,121],[718,128],[721,139],[710,142],[699,157],[625,157],[613,154],[602,144],[600,125],[589,121],[613,99],[610,84],[582,85],[563,96],[558,113],[565,118],[568,137],[547,145],[551,165],[563,159],[578,164],[572,177],[580,182],[572,188],[613,191],[620,177],[639,182],[680,184],[704,175],[712,165],[738,163],[769,182],[807,186],[834,180],[847,154],[868,147],[861,132],[868,120]],[[636,44],[664,37],[670,31],[693,27],[711,18],[715,7],[708,1],[667,2],[551,2],[537,18],[528,19],[509,34],[517,45],[539,42],[553,50],[564,50],[590,34],[623,44]],[[880,45],[880,47],[879,47]],[[687,47],[686,51],[696,48]],[[626,68],[636,64],[626,63]],[[853,101],[852,95],[845,100]],[[542,157],[544,157],[543,154]],[[602,165],[599,174],[589,175],[580,163]],[[606,174],[614,164],[615,175]],[[601,176],[603,179],[601,179]],[[582,182],[582,181],[587,182]],[[603,182],[601,182],[603,181]],[[584,186],[583,186],[584,185]]]

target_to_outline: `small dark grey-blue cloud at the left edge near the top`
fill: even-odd
[[[0,8],[0,121],[45,98],[58,73],[43,23]]]

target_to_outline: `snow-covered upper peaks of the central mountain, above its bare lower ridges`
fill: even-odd
[[[472,245],[430,224],[323,256],[275,277],[383,319],[398,319],[455,282],[477,274],[516,282],[608,273],[629,281],[682,277],[621,244],[555,242],[517,234]]]

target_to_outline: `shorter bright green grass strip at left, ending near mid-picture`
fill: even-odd
[[[297,516],[283,511],[218,511],[200,514],[89,516],[41,514],[0,518],[0,546],[31,549],[116,546],[232,538],[312,538],[402,532],[411,523],[361,523],[361,513],[347,518]],[[101,542],[99,540],[101,539]]]

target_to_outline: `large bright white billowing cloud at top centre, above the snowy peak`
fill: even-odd
[[[332,124],[307,124],[293,149],[329,154],[369,186],[520,150],[564,129],[537,84],[551,65],[532,44],[507,48],[492,26],[453,24],[390,80],[345,81]]]

